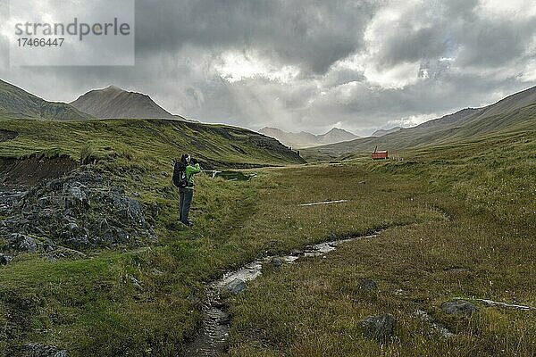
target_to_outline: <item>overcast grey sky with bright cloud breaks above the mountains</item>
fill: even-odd
[[[137,0],[135,66],[9,67],[7,47],[0,79],[47,100],[114,84],[204,122],[367,135],[536,85],[536,3]]]

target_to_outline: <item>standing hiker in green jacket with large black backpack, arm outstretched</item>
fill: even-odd
[[[179,220],[188,227],[192,227],[194,224],[188,220],[188,212],[190,204],[192,203],[192,196],[194,195],[194,175],[201,172],[199,164],[193,165],[192,158],[188,154],[182,154],[180,162],[175,165],[175,171],[173,172],[173,183],[179,187],[180,195],[180,213]],[[179,175],[179,179],[175,176]]]

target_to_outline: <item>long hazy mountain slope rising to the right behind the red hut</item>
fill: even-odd
[[[401,129],[383,137],[365,137],[345,143],[324,145],[302,151],[306,158],[336,158],[349,153],[380,150],[399,151],[416,146],[441,145],[501,131],[530,130],[536,122],[536,87],[481,109],[465,109],[415,128]]]

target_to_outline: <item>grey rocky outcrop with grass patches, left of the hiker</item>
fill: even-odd
[[[7,252],[79,251],[155,236],[141,204],[89,169],[27,190],[0,189],[0,214]],[[55,256],[77,251],[63,249]]]

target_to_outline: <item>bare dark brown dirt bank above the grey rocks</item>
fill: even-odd
[[[44,179],[58,179],[76,169],[69,157],[0,159],[0,184],[8,187],[34,186]]]

